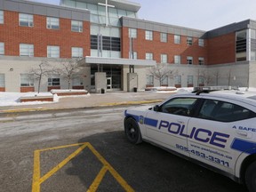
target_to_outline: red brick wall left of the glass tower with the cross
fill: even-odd
[[[34,15],[34,27],[19,26],[19,12],[4,11],[4,25],[0,25],[0,42],[5,55],[19,56],[20,44],[34,44],[35,57],[47,57],[47,45],[60,46],[60,58],[71,58],[71,47],[83,47],[90,55],[90,22],[84,21],[83,33],[71,31],[71,20],[60,18],[60,29],[46,28],[46,17]]]

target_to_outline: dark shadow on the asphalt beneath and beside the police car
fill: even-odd
[[[174,156],[146,142],[132,145],[124,132],[107,132],[78,140],[89,142],[135,191],[246,191],[243,185]],[[89,148],[76,156],[66,171],[90,188],[102,164]],[[97,191],[124,191],[110,172],[103,175]]]

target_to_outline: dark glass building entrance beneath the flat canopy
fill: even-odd
[[[91,89],[95,89],[95,73],[105,72],[108,90],[122,90],[121,65],[91,65]]]

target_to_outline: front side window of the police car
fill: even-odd
[[[196,100],[196,98],[175,98],[168,100],[161,106],[160,112],[179,116],[191,116]]]

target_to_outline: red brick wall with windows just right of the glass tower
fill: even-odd
[[[130,40],[128,28],[122,28],[122,56],[129,58]],[[145,39],[145,30],[137,29],[137,38],[134,39],[134,52],[137,52],[139,60],[145,60],[146,52],[153,53],[153,60],[161,61],[161,54],[167,54],[168,63],[174,63],[174,55],[181,56],[181,63],[187,64],[187,56],[193,57],[194,64],[198,64],[198,58],[204,57],[207,63],[207,40],[204,40],[204,47],[198,45],[198,38],[193,37],[193,45],[187,45],[187,36],[181,36],[180,44],[174,44],[174,35],[168,34],[168,42],[160,41],[160,32],[153,32],[153,41]]]

